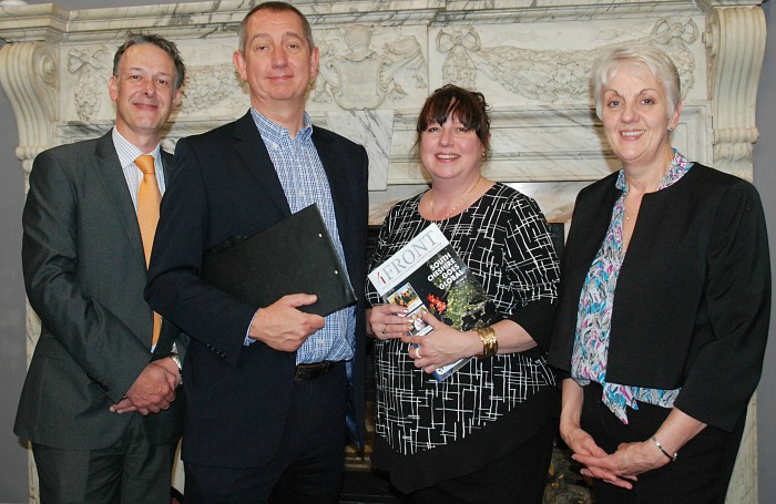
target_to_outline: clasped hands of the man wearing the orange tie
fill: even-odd
[[[150,362],[126,391],[124,399],[111,407],[111,412],[136,411],[142,415],[159,413],[169,409],[175,400],[175,389],[180,383],[181,374],[172,359]]]

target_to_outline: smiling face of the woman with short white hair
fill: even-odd
[[[682,104],[668,110],[665,89],[649,70],[620,66],[601,89],[601,103],[606,140],[623,167],[650,167],[671,153],[668,128],[676,127]]]

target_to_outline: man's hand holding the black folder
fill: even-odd
[[[284,352],[296,351],[312,333],[324,327],[324,318],[297,308],[313,305],[318,298],[308,294],[284,296],[256,311],[248,337]]]

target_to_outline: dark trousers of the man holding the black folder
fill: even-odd
[[[347,435],[345,364],[337,363],[314,380],[294,382],[292,394],[288,421],[273,461],[261,467],[185,463],[186,504],[337,502]],[[236,446],[224,446],[233,449]]]

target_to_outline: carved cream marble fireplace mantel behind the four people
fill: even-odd
[[[188,68],[165,138],[242,115],[232,66],[237,28],[255,1],[223,0],[69,11],[0,7],[0,83],[16,112],[17,156],[29,173],[41,151],[93,137],[112,124],[115,48],[129,30],[177,42]],[[308,99],[314,122],[364,143],[371,220],[426,186],[411,152],[428,93],[452,82],[492,105],[484,172],[568,222],[578,191],[617,168],[591,107],[590,65],[603,47],[645,41],[680,68],[684,113],[674,145],[691,158],[752,178],[755,99],[765,47],[760,1],[733,0],[300,0],[320,48]],[[28,317],[30,344],[38,333]],[[753,401],[754,408],[754,401]],[[755,503],[754,415],[728,502]]]

